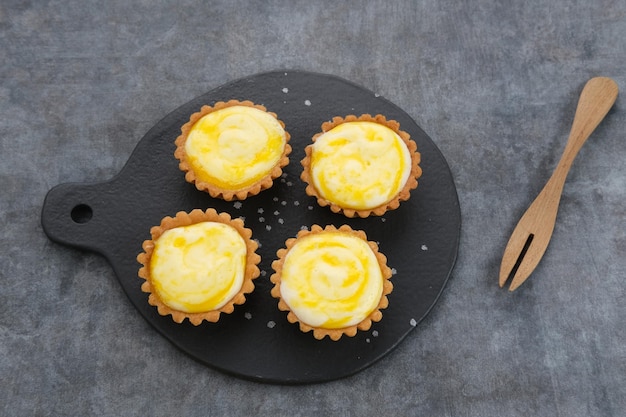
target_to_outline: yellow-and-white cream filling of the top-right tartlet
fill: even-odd
[[[378,123],[343,123],[313,144],[313,185],[323,198],[344,208],[372,209],[389,202],[404,188],[410,173],[406,144]]]

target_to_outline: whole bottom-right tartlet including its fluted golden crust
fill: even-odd
[[[271,295],[287,320],[316,339],[354,336],[380,321],[393,285],[387,258],[365,232],[313,225],[287,239],[272,262]]]

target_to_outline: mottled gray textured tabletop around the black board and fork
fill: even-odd
[[[3,1],[0,414],[623,416],[623,96],[583,147],[517,292],[502,250],[596,75],[626,88],[626,2]],[[232,79],[331,73],[437,143],[463,214],[439,303],[390,355],[310,386],[206,368],[134,310],[98,255],[50,242],[46,192],[122,168],[165,114]]]

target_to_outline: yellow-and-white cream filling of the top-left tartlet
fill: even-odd
[[[231,106],[198,120],[187,136],[185,152],[200,180],[239,190],[269,174],[286,143],[285,130],[271,114]]]

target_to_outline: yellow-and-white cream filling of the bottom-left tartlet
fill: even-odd
[[[246,251],[237,230],[223,223],[167,230],[155,242],[152,284],[171,308],[185,313],[216,310],[241,289]]]

